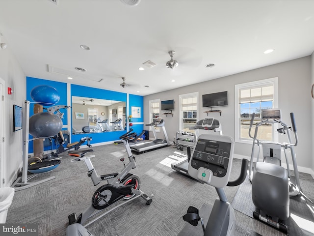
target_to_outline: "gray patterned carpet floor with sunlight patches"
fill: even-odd
[[[97,173],[120,172],[121,157],[127,157],[123,144],[93,147],[95,157],[91,159]],[[131,171],[141,179],[141,190],[154,194],[151,205],[141,197],[112,210],[88,227],[95,236],[177,236],[187,224],[182,216],[189,206],[212,207],[217,197],[209,185],[185,177],[170,167],[172,156],[178,150],[174,146],[134,154],[137,167]],[[185,154],[186,150],[179,150]],[[170,156],[170,157],[169,157]],[[84,162],[71,162],[64,153],[61,164],[52,172],[43,173],[30,181],[55,176],[55,179],[15,192],[8,210],[7,223],[37,223],[39,236],[65,236],[68,215],[81,213],[91,203],[91,198],[101,184],[94,186],[87,177]],[[126,159],[128,161],[128,159]],[[241,161],[235,159],[231,179],[235,179]],[[314,200],[314,181],[310,175],[301,174],[301,185],[305,194]],[[105,181],[103,181],[105,184]],[[229,202],[233,201],[238,187],[226,187]],[[257,220],[235,211],[236,224],[248,232],[264,236],[284,234]]]

